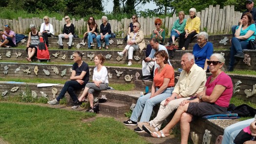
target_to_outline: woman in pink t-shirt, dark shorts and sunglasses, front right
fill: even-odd
[[[162,138],[170,135],[171,128],[180,122],[181,144],[188,144],[190,122],[193,117],[206,115],[225,114],[233,93],[231,78],[224,73],[225,58],[221,54],[213,54],[207,61],[212,76],[207,79],[204,90],[197,94],[193,100],[184,100],[180,103],[171,122],[162,130],[151,133],[154,138]],[[147,125],[143,125],[146,131]]]

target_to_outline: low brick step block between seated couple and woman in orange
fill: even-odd
[[[129,105],[121,103],[106,102],[99,104],[100,114],[114,118],[125,117],[125,113],[129,111],[129,108]]]

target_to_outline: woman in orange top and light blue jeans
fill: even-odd
[[[155,70],[151,92],[138,99],[130,119],[124,122],[126,125],[137,125],[140,116],[140,122],[149,122],[153,106],[170,97],[174,89],[174,70],[168,64],[167,52],[160,50],[154,57],[159,67]],[[143,132],[144,130],[142,127],[137,127],[134,131]]]

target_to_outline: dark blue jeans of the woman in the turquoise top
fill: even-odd
[[[235,37],[233,37],[231,39],[231,48],[230,48],[230,62],[229,62],[229,66],[230,67],[234,67],[234,62],[235,62],[235,55],[238,52],[243,52],[243,49],[247,49],[247,46],[249,44],[249,41],[242,41],[239,40]]]

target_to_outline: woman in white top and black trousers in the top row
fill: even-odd
[[[41,27],[40,27],[40,33],[43,34],[45,43],[47,47],[49,47],[48,37],[51,37],[51,35],[54,35],[53,26],[50,23],[48,16],[44,16],[43,21],[44,22],[41,24]]]

